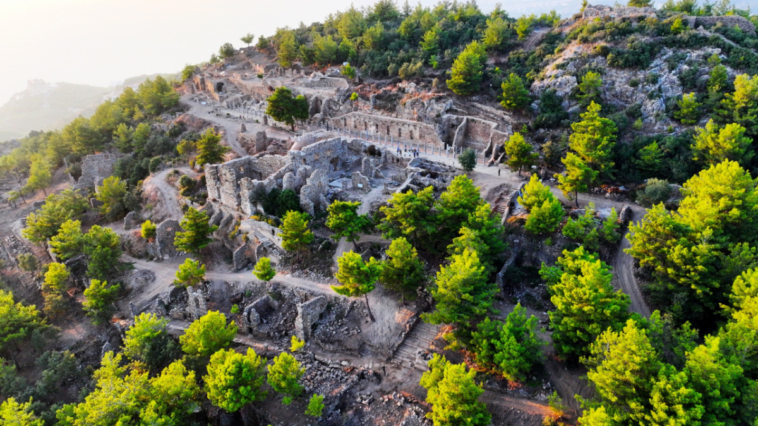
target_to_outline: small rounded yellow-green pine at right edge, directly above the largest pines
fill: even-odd
[[[695,161],[708,165],[731,160],[747,165],[753,158],[750,150],[752,139],[745,136],[746,129],[739,124],[727,124],[723,128],[709,120],[705,128],[695,129],[692,151]]]

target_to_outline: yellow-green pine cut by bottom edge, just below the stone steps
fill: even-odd
[[[488,425],[490,413],[478,401],[484,389],[474,382],[475,377],[474,370],[466,372],[465,364],[450,364],[435,354],[429,361],[429,371],[421,376],[421,386],[427,390],[426,402],[432,406],[426,417],[436,426]]]

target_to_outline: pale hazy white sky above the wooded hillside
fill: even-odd
[[[496,2],[478,4],[486,13]],[[351,3],[363,7],[374,0],[0,0],[0,104],[31,79],[112,86],[138,75],[175,73],[207,61],[223,43],[242,46],[239,39],[248,32],[257,38],[322,21]],[[566,17],[581,0],[501,3],[514,17],[551,9]]]

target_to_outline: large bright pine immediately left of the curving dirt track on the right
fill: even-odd
[[[576,274],[574,271],[580,273]],[[588,352],[588,346],[609,327],[618,330],[629,314],[629,296],[614,291],[610,268],[600,260],[578,259],[574,271],[565,271],[550,285],[553,343],[567,358]]]

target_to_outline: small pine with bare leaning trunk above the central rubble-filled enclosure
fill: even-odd
[[[353,251],[343,253],[337,259],[339,270],[334,275],[339,286],[332,286],[337,294],[348,297],[363,296],[366,299],[366,309],[371,321],[374,321],[374,315],[368,304],[368,294],[374,290],[376,281],[382,273],[382,265],[373,257],[364,262],[361,255]]]

